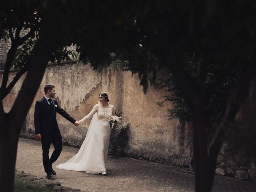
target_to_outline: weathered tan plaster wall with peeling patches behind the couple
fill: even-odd
[[[14,74],[15,72],[12,72],[12,76]],[[4,99],[5,111],[10,110],[22,80]],[[161,101],[160,97],[165,95],[164,90],[156,90],[150,86],[145,95],[136,74],[132,76],[130,72],[92,70],[92,67],[83,63],[48,66],[22,129],[23,137],[34,138],[34,105],[36,100],[43,97],[45,84],[56,86],[56,100],[77,120],[90,112],[98,102],[100,92],[108,92],[110,103],[116,110],[123,111],[122,122],[130,123],[129,139],[125,149],[128,155],[141,156],[157,162],[188,164],[188,128],[180,126],[176,120],[168,120],[166,110],[170,106],[160,107],[155,103]],[[57,120],[63,142],[79,147],[90,120],[79,127],[59,115]]]

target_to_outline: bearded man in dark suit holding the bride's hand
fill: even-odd
[[[52,163],[58,159],[62,151],[62,136],[56,120],[56,112],[74,125],[78,122],[62,109],[56,100],[52,99],[56,94],[54,85],[47,84],[44,87],[44,93],[44,97],[35,105],[34,126],[36,139],[41,140],[42,143],[44,171],[48,179],[53,179],[52,175],[56,175],[56,172],[52,169]],[[54,151],[49,159],[51,143]]]

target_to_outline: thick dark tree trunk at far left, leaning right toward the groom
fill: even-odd
[[[0,116],[0,191],[14,190],[14,171],[16,164],[17,146],[22,124],[26,119],[31,104],[36,96],[44,72],[46,70],[54,36],[47,24],[40,31],[40,38],[36,43],[35,53],[31,60],[28,73],[22,83],[20,92],[8,114]]]

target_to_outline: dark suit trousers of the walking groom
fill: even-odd
[[[52,172],[52,164],[58,159],[62,151],[62,136],[60,132],[53,129],[50,134],[41,136],[41,143],[43,150],[44,171],[48,174]],[[54,151],[49,158],[51,143],[54,146]]]

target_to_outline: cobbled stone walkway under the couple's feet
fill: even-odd
[[[51,148],[50,153],[53,151]],[[57,164],[66,162],[78,148],[63,147]],[[86,191],[108,192],[193,192],[194,175],[176,171],[177,168],[136,160],[133,158],[108,158],[107,176],[92,175],[85,172],[60,170],[52,181],[62,186]],[[41,142],[20,138],[16,169],[46,178],[42,165]],[[216,176],[212,192],[256,192],[256,183]]]

